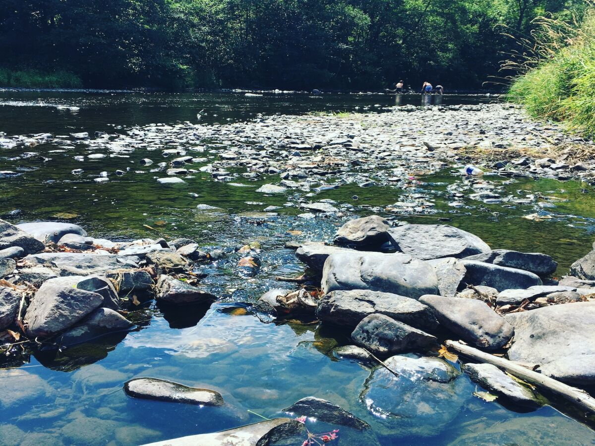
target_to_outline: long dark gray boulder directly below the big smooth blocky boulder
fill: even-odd
[[[433,331],[438,322],[430,308],[410,297],[371,290],[337,290],[321,298],[316,316],[324,323],[354,328],[372,313]]]

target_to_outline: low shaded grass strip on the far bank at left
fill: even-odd
[[[68,71],[11,70],[0,68],[0,87],[81,88],[83,82]]]

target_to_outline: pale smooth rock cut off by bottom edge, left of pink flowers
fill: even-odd
[[[295,418],[274,418],[213,434],[183,436],[144,446],[267,446],[298,434],[303,424]]]

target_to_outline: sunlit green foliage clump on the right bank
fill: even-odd
[[[543,26],[555,26],[547,23]],[[569,130],[595,136],[595,10],[566,30],[565,46],[515,79],[508,98],[531,115],[565,123]],[[543,34],[542,34],[543,35]],[[557,33],[548,33],[559,37]],[[560,40],[560,39],[558,39]],[[547,45],[547,42],[540,42]]]

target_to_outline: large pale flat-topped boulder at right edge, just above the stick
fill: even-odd
[[[539,364],[568,384],[595,384],[595,302],[552,305],[504,316],[515,328],[513,361]]]

